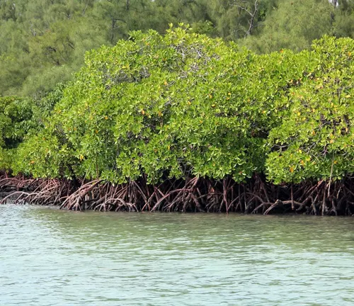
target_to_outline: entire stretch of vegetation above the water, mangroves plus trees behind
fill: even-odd
[[[18,200],[354,213],[353,1],[0,0],[0,27]]]

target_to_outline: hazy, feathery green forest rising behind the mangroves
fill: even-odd
[[[258,53],[299,51],[325,34],[353,38],[354,1],[0,0],[0,96],[42,98],[87,50],[181,22]]]

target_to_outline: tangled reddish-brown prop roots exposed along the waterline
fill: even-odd
[[[304,182],[275,186],[261,175],[247,183],[193,177],[166,179],[154,186],[146,179],[114,185],[102,180],[68,181],[0,176],[0,203],[59,205],[68,210],[301,213],[353,215],[354,180]]]

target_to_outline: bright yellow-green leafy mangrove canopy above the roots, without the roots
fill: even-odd
[[[13,170],[115,183],[353,173],[353,40],[256,55],[180,26],[88,52]]]

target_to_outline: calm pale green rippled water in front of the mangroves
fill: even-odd
[[[0,206],[0,305],[353,305],[354,218]]]

